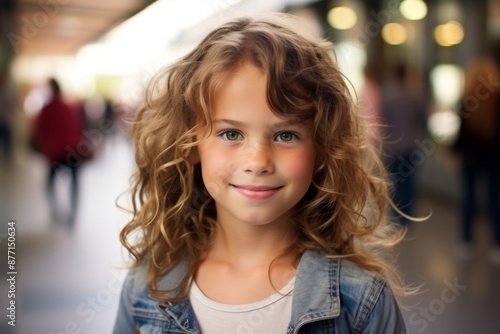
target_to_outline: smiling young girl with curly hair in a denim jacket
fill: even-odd
[[[150,86],[114,333],[405,331],[383,167],[331,44],[298,26],[224,24]]]

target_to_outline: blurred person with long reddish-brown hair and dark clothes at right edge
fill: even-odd
[[[458,255],[472,256],[473,221],[477,213],[478,181],[485,178],[486,201],[493,228],[490,260],[500,265],[500,89],[495,61],[479,57],[465,71],[460,104],[461,125],[454,145],[461,156],[461,241]]]

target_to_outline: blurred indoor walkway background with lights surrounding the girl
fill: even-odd
[[[432,212],[424,223],[401,219],[409,233],[398,249],[399,269],[409,283],[423,284],[404,301],[408,332],[500,333],[500,111],[495,103],[480,111],[500,87],[500,0],[2,0],[0,6],[1,333],[111,332],[125,275],[118,234],[129,218],[117,204],[128,204],[120,196],[134,170],[129,121],[142,91],[220,23],[269,11],[291,12],[335,44],[360,112],[384,125],[395,201],[415,216]],[[469,75],[475,81],[466,90],[471,62],[485,57],[492,66]],[[52,169],[33,138],[54,95],[49,78],[81,116],[84,138],[68,149],[72,168],[53,171],[52,197]],[[490,135],[462,138],[469,120],[472,132]],[[475,144],[467,149],[464,141]],[[9,263],[14,239],[15,263]]]

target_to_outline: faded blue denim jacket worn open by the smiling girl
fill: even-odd
[[[186,266],[179,265],[159,281],[176,286]],[[345,259],[306,251],[293,290],[287,334],[406,333],[394,296],[378,276]],[[146,265],[132,269],[123,286],[113,334],[200,334],[189,300],[163,303],[147,288]]]

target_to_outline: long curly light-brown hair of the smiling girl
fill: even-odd
[[[397,277],[380,252],[403,235],[386,216],[390,200],[384,167],[364,138],[332,44],[305,36],[297,26],[289,15],[277,13],[233,20],[148,86],[132,128],[138,167],[133,218],[120,238],[135,265],[149,261],[148,286],[159,300],[187,297],[212,240],[215,204],[192,157],[196,134],[211,127],[214,93],[243,61],[266,74],[268,103],[277,116],[313,123],[315,172],[293,208],[298,239],[291,247],[298,254],[310,249],[349,257],[388,281]],[[188,270],[177,293],[159,291],[158,279],[180,263]]]

